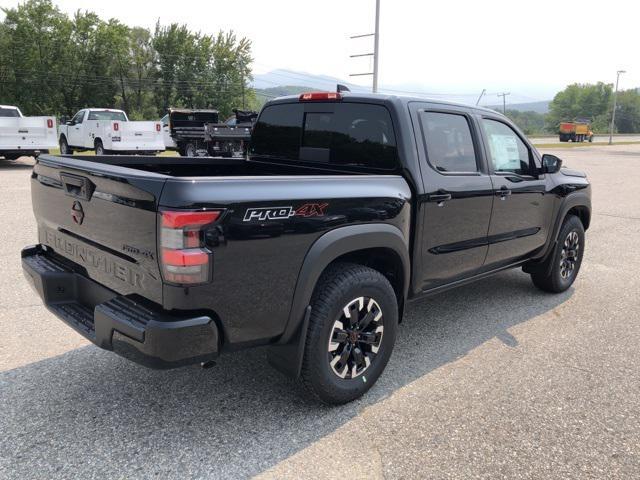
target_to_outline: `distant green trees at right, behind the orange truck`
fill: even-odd
[[[618,92],[615,131],[640,132],[640,89]],[[527,135],[557,133],[560,122],[588,120],[596,133],[606,133],[611,125],[613,85],[575,83],[558,92],[549,104],[549,112],[507,110],[506,115]]]

